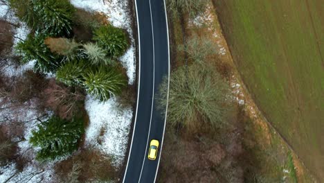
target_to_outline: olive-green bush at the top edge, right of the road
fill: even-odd
[[[168,0],[167,4],[172,17],[187,13],[190,17],[195,17],[205,10],[208,2],[208,0]]]

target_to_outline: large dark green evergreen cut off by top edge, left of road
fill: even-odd
[[[75,8],[68,0],[10,0],[17,17],[47,35],[71,35]]]

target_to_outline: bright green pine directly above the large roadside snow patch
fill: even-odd
[[[87,92],[100,101],[107,101],[111,94],[120,94],[122,88],[127,85],[125,76],[111,67],[89,69],[83,76],[83,85]]]

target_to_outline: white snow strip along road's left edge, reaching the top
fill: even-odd
[[[132,85],[135,80],[135,50],[134,37],[132,37],[132,21],[127,10],[127,0],[70,0],[73,6],[89,12],[102,12],[107,16],[111,25],[127,30],[132,45],[120,58],[123,66],[127,69],[128,83]]]

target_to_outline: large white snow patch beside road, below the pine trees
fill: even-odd
[[[86,145],[112,156],[113,164],[120,166],[127,148],[132,107],[118,110],[115,98],[102,103],[87,96],[85,103],[90,119],[85,138]]]

